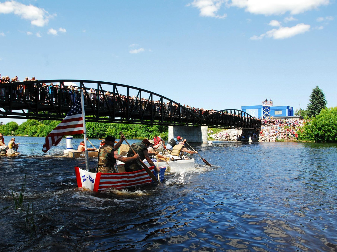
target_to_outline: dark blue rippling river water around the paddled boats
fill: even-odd
[[[21,154],[0,157],[0,251],[337,251],[337,145],[193,144],[212,167],[194,154],[194,171],[161,186],[94,193],[77,187],[85,165],[66,140],[47,154],[43,141],[16,137]]]

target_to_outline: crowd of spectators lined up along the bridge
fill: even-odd
[[[0,74],[1,77],[1,74]],[[18,85],[16,89],[1,87],[1,97],[9,97],[8,100],[20,100],[26,99],[28,101],[38,100],[41,104],[72,104],[80,96],[80,88],[75,85],[69,85],[65,83],[31,83],[25,84],[25,81],[37,81],[35,77],[26,77],[23,84]],[[18,76],[9,78],[9,76],[3,76],[0,78],[0,84],[20,82]],[[84,90],[84,88],[82,88]],[[211,115],[216,111],[214,109],[195,108],[189,105],[180,106],[180,103],[176,104],[172,101],[163,100],[149,100],[146,98],[140,98],[139,96],[126,96],[118,93],[111,93],[110,91],[96,90],[94,88],[86,88],[85,90],[85,105],[100,107],[100,108],[113,108],[123,111],[125,108],[129,108],[133,112],[140,111],[141,109],[145,113],[158,113],[165,115],[180,115],[187,117],[186,112],[191,111],[197,116],[205,117]],[[225,112],[226,114],[226,112]],[[241,115],[238,115],[241,116]]]

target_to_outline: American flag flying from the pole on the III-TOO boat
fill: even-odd
[[[57,146],[62,136],[84,133],[81,97],[72,105],[67,116],[46,136],[43,144],[43,152],[47,152],[52,146]]]

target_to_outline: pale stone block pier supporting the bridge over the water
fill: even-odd
[[[181,136],[188,143],[207,143],[207,126],[168,126],[168,140]]]

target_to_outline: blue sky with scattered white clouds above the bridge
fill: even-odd
[[[306,109],[318,85],[334,107],[336,13],[335,0],[0,0],[0,73],[121,83],[215,110],[266,98]]]

